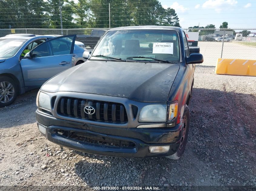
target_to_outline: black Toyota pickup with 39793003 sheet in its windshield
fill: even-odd
[[[37,96],[38,129],[86,153],[178,159],[189,129],[199,48],[168,26],[108,30],[85,63],[48,80]]]

